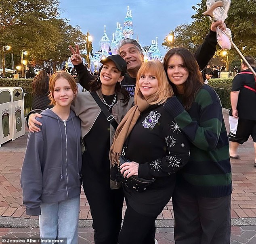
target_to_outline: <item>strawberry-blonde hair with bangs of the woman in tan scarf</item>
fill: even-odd
[[[166,77],[166,72],[164,71],[163,64],[157,60],[148,61],[141,65],[141,68],[138,70],[137,73],[136,86],[134,92],[135,104],[136,97],[139,95],[139,93],[141,93],[138,86],[138,81],[140,80],[142,74],[154,75],[158,81],[157,91],[147,98],[147,102],[150,105],[165,103],[169,97],[172,97],[174,95],[172,87]]]

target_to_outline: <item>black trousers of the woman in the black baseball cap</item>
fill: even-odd
[[[83,179],[84,193],[90,205],[95,244],[117,244],[122,223],[124,192],[111,190],[99,182]]]

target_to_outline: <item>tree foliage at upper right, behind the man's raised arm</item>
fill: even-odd
[[[192,6],[196,13],[192,16],[193,22],[187,25],[179,25],[174,30],[175,46],[183,46],[194,52],[196,47],[200,45],[209,31],[211,25],[210,18],[205,17],[203,12],[206,11],[206,0],[201,0],[196,6]],[[256,0],[233,0],[229,8],[228,17],[225,21],[227,27],[231,29],[233,42],[237,45],[244,56],[256,56]],[[170,43],[164,42],[163,46],[170,48]],[[214,56],[221,57],[220,47],[217,45],[217,52]],[[240,56],[234,48],[229,50],[229,67],[233,70]],[[223,60],[224,61],[224,60]],[[236,64],[237,65],[237,64]]]

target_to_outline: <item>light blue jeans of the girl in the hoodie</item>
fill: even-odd
[[[78,244],[80,196],[57,203],[42,203],[39,227],[41,238],[67,238]]]

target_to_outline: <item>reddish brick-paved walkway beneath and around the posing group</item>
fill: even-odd
[[[223,110],[227,130],[228,113]],[[38,237],[38,217],[27,216],[22,206],[19,184],[27,140],[24,136],[0,147],[0,237]],[[233,168],[232,244],[256,244],[256,168],[252,139],[238,149],[240,160],[231,159]],[[123,213],[126,206],[124,204]],[[156,238],[159,244],[174,243],[173,210],[169,202],[158,216]],[[92,217],[87,199],[80,201],[79,243],[93,243]],[[1,239],[0,239],[1,241]]]

